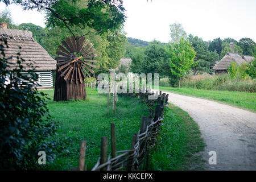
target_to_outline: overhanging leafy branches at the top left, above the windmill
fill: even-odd
[[[125,22],[122,0],[2,0],[6,5],[15,3],[24,10],[46,10],[49,27],[90,27],[97,33],[115,30]]]

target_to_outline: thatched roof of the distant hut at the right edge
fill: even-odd
[[[215,66],[213,69],[215,70],[226,70],[232,61],[236,62],[238,65],[242,63],[249,63],[253,56],[240,56],[238,53],[228,52]]]

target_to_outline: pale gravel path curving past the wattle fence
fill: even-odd
[[[256,113],[201,98],[169,94],[168,101],[187,111],[207,144],[206,170],[256,170]],[[256,103],[255,103],[256,104]],[[208,152],[216,151],[210,165]]]

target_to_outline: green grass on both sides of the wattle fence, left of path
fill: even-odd
[[[109,138],[110,152],[110,122],[115,123],[117,150],[129,149],[132,135],[141,126],[141,117],[149,113],[149,108],[138,98],[118,97],[117,114],[112,109],[108,114],[106,96],[99,96],[97,91],[89,88],[86,91],[86,101],[53,102],[53,90],[44,90],[51,98],[47,104],[52,118],[61,122],[55,139],[64,142],[68,149],[63,148],[56,154],[55,161],[47,165],[49,170],[78,167],[81,140],[87,141],[85,163],[88,170],[92,169],[100,156],[102,136]],[[157,139],[156,150],[151,152],[150,169],[185,169],[187,164],[199,165],[201,158],[195,160],[188,153],[203,149],[196,123],[177,107],[171,106],[167,113],[169,116]]]

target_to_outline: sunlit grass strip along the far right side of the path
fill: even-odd
[[[208,100],[219,101],[250,111],[256,111],[256,94],[248,92],[230,92],[220,90],[200,90],[192,88],[172,88],[159,86],[159,90],[166,90],[173,93],[183,94],[185,96],[195,96],[206,98]]]

